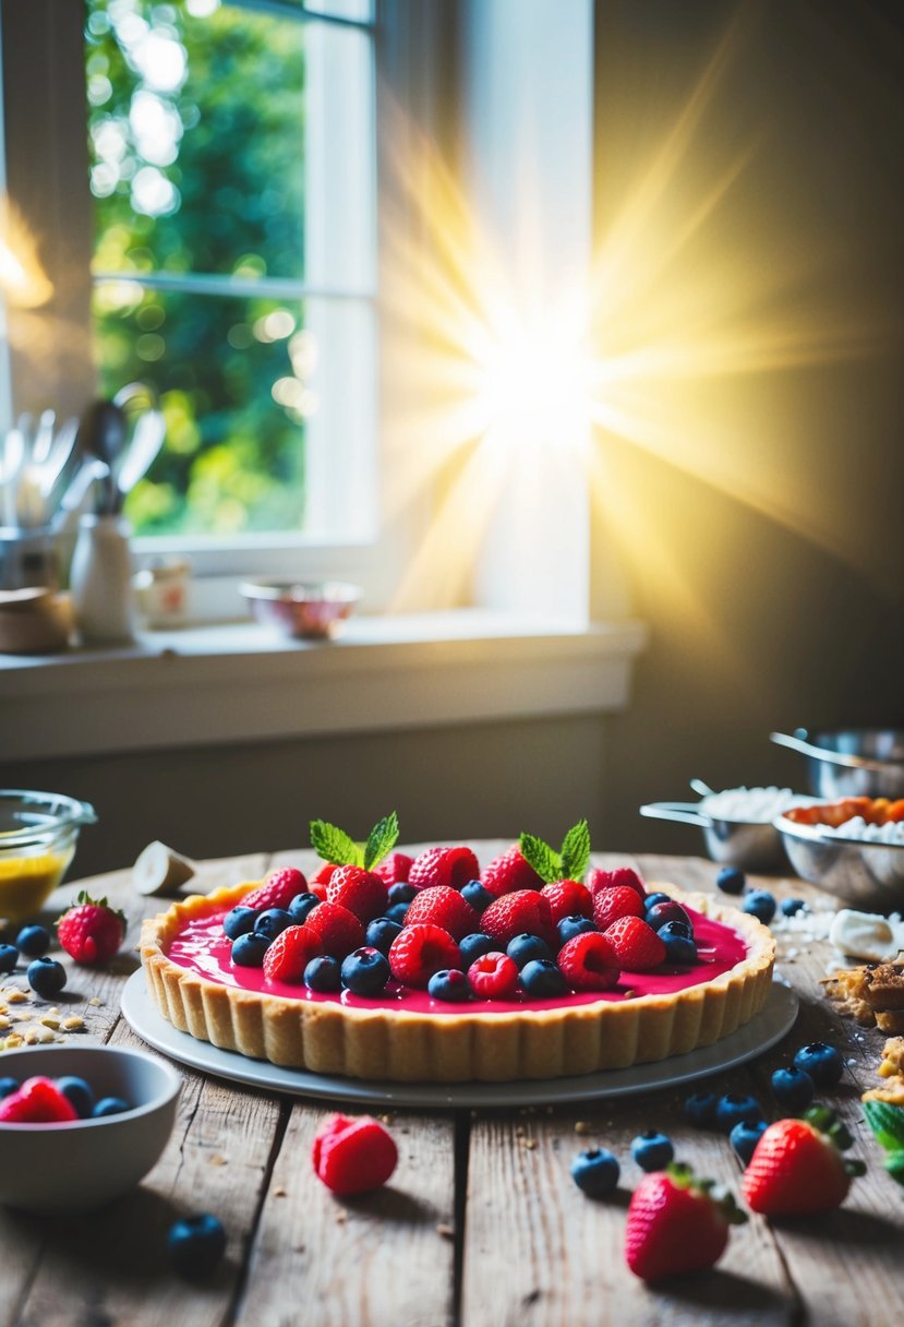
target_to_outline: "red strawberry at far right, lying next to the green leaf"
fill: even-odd
[[[765,1131],[741,1182],[754,1212],[766,1217],[805,1217],[839,1208],[862,1161],[846,1161],[851,1136],[828,1107],[817,1105],[802,1120],[777,1120]]]

